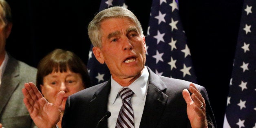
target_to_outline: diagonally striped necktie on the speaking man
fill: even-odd
[[[130,99],[134,93],[130,88],[122,88],[118,95],[123,100],[123,106],[119,111],[116,128],[134,128],[134,116]]]

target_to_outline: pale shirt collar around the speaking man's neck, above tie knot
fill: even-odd
[[[137,78],[132,84],[127,86],[130,88],[134,95],[141,99],[141,102],[145,99],[147,87],[148,87],[148,68],[144,66],[143,72],[139,78]],[[118,97],[119,90],[123,88],[120,84],[118,84],[111,76],[111,90],[110,90],[110,103],[114,104],[115,99]]]

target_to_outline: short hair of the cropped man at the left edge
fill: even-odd
[[[0,0],[0,5],[3,9],[3,13],[0,15],[3,15],[3,20],[6,24],[12,22],[12,16],[11,16],[11,7],[5,0]]]

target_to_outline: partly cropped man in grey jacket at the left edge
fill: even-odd
[[[0,124],[5,128],[29,128],[33,120],[20,90],[25,82],[35,82],[37,69],[5,51],[11,28],[11,9],[5,0],[0,0]]]

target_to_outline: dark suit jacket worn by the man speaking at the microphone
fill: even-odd
[[[182,96],[190,82],[156,75],[149,68],[148,71],[150,81],[140,128],[190,128]],[[196,87],[205,99],[207,120],[216,127],[207,92],[203,86]],[[110,88],[109,80],[68,97],[62,128],[95,128],[107,111]],[[100,127],[107,128],[106,119]]]

